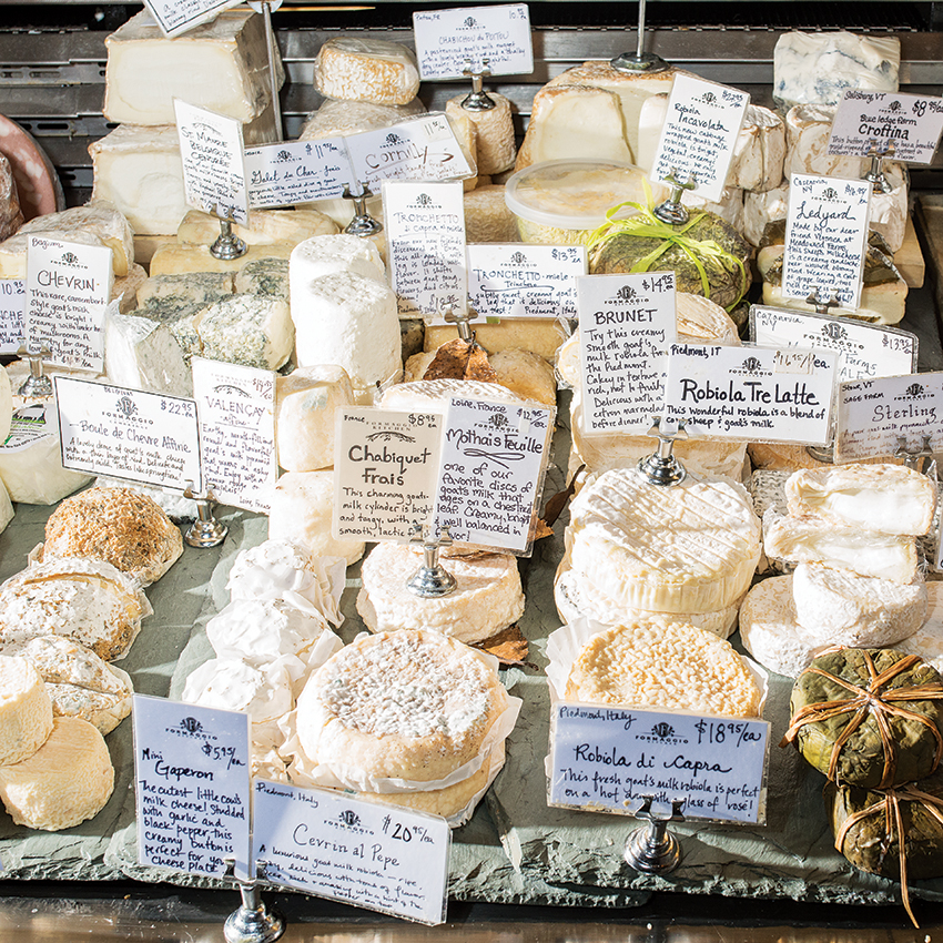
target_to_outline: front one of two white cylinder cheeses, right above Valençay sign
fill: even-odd
[[[296,286],[292,320],[298,366],[337,364],[347,371],[356,402],[373,402],[377,384],[402,375],[396,295],[374,278],[337,272]]]

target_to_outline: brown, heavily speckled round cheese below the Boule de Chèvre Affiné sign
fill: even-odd
[[[62,501],[47,520],[42,558],[93,557],[148,586],[182,552],[180,530],[146,495],[90,488]]]

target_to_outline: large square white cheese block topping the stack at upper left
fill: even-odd
[[[173,100],[252,121],[272,102],[263,18],[225,10],[212,22],[166,39],[143,10],[105,39],[109,121],[173,124]],[[275,52],[277,83],[284,81]]]

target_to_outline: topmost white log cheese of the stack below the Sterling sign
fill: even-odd
[[[936,509],[936,487],[903,465],[835,465],[804,468],[785,483],[791,515],[879,534],[926,534]]]

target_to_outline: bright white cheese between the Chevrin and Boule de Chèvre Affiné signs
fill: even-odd
[[[104,372],[111,383],[193,396],[193,376],[166,324],[110,313],[104,322]]]

